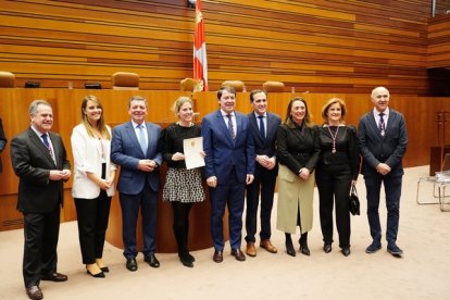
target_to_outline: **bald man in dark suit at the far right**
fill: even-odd
[[[389,91],[377,87],[372,91],[374,109],[363,115],[358,127],[358,139],[363,158],[362,174],[367,190],[367,217],[372,243],[365,250],[374,253],[382,249],[379,223],[379,193],[385,186],[387,208],[387,250],[399,257],[403,251],[397,246],[399,229],[400,195],[403,177],[402,159],[407,151],[407,124],[401,113],[389,109]]]

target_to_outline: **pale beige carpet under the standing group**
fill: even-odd
[[[398,239],[402,259],[388,254],[386,242],[375,254],[364,252],[371,241],[365,214],[352,217],[350,257],[339,252],[337,236],[333,252],[325,254],[315,197],[311,257],[288,257],[283,233],[274,229],[277,254],[258,249],[257,258],[238,262],[227,245],[221,264],[211,260],[213,250],[207,249],[192,253],[193,268],[183,266],[176,254],[158,254],[160,268],[151,268],[139,257],[139,270],[130,273],[122,250],[107,245],[104,259],[111,273],[97,279],[80,263],[76,223],[71,222],[61,225],[59,243],[59,271],[68,275],[68,282],[42,282],[45,299],[450,299],[450,213],[415,203],[416,180],[427,173],[427,166],[407,170]],[[365,212],[362,177],[358,187]],[[385,228],[384,202],[380,212]],[[276,211],[273,216],[275,227]],[[22,252],[22,230],[0,233],[0,299],[26,299]]]

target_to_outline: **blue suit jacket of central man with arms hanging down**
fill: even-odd
[[[236,137],[232,139],[221,110],[204,116],[201,125],[203,137],[204,175],[217,177],[218,184],[228,183],[235,166],[239,183],[246,182],[247,174],[254,174],[254,146],[249,130],[249,118],[235,111]]]

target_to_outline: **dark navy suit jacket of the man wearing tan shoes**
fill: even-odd
[[[254,115],[254,112],[249,113],[248,118],[250,121],[250,132],[253,136],[254,142],[254,154],[255,155],[267,155],[268,158],[276,157],[276,135],[278,132],[278,126],[282,124],[282,118],[273,113],[267,112],[267,122],[266,122],[266,130],[265,130],[265,140],[262,140],[260,134],[260,127],[258,126],[259,120]],[[257,164],[257,174],[260,171],[260,167],[266,170],[259,163]],[[278,164],[272,170],[273,172],[277,172]]]

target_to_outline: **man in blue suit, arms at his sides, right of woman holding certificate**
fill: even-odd
[[[254,148],[249,118],[235,111],[236,90],[223,87],[217,91],[220,109],[203,117],[204,173],[211,196],[211,230],[214,262],[223,261],[223,216],[228,207],[232,255],[245,261],[240,251],[246,184],[253,182]]]

